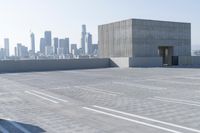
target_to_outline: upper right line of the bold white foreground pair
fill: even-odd
[[[168,125],[168,126],[172,126],[172,127],[181,128],[181,129],[184,129],[184,130],[200,133],[200,130],[181,126],[181,125],[177,125],[177,124],[173,124],[173,123],[159,121],[159,120],[155,120],[155,119],[152,119],[152,118],[139,116],[139,115],[135,115],[135,114],[131,114],[131,113],[126,113],[126,112],[122,112],[122,111],[118,111],[118,110],[114,110],[114,109],[109,109],[109,108],[105,108],[105,107],[100,107],[100,106],[96,106],[96,105],[94,105],[94,107],[99,108],[99,109],[103,109],[103,110],[107,110],[107,111],[112,111],[112,112],[115,112],[115,113],[120,113],[120,114],[131,116],[131,117],[135,117],[135,118],[139,118],[139,119],[143,119],[143,120],[148,120],[148,121],[151,121],[151,122],[156,122],[156,123],[160,123],[160,124],[164,124],[164,125]]]

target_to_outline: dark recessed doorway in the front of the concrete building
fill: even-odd
[[[158,52],[163,59],[163,66],[173,65],[173,47],[161,46],[158,47]]]

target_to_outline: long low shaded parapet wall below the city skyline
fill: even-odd
[[[95,69],[110,67],[110,59],[11,60],[0,61],[0,73]]]

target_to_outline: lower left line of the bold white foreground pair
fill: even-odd
[[[160,130],[164,130],[164,131],[167,131],[167,132],[171,132],[171,133],[181,133],[181,132],[179,132],[179,131],[175,131],[175,130],[172,130],[172,129],[169,129],[169,128],[165,128],[165,127],[161,127],[161,126],[156,126],[156,125],[153,125],[153,124],[145,123],[145,122],[142,122],[142,121],[137,121],[137,120],[130,119],[130,118],[127,118],[127,117],[123,117],[123,116],[119,116],[119,115],[115,115],[115,114],[103,112],[103,111],[100,111],[100,110],[96,110],[96,109],[92,109],[92,108],[88,108],[88,107],[83,107],[83,108],[86,109],[86,110],[89,110],[89,111],[96,112],[96,113],[100,113],[100,114],[112,116],[112,117],[115,117],[115,118],[118,118],[118,119],[130,121],[130,122],[133,122],[133,123],[145,125],[145,126],[152,127],[152,128],[156,128],[156,129],[160,129]]]

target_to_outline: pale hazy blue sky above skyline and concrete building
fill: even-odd
[[[11,53],[22,43],[30,48],[30,31],[36,50],[45,30],[52,36],[80,44],[81,25],[98,41],[98,25],[130,18],[190,22],[192,46],[200,48],[200,0],[0,0],[0,47],[9,38]]]

